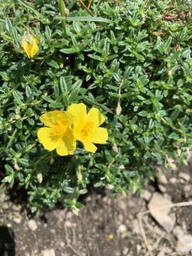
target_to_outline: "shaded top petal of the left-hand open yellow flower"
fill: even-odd
[[[73,116],[64,111],[54,110],[42,114],[40,120],[47,127],[53,127],[59,124],[70,125],[73,122]]]

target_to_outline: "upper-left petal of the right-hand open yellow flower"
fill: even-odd
[[[83,103],[72,104],[68,107],[68,113],[73,114],[75,122],[78,124],[84,124],[86,119],[86,106]]]

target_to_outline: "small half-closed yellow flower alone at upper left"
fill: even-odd
[[[38,53],[38,39],[30,33],[23,36],[21,46],[26,55],[28,55],[28,58],[33,58]]]

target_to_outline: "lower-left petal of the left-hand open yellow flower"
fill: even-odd
[[[44,148],[50,151],[55,149],[58,145],[58,142],[51,140],[51,129],[48,127],[38,129],[38,139],[41,144],[43,144]]]

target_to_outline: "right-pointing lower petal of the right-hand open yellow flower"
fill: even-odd
[[[105,144],[108,138],[107,129],[102,127],[97,127],[93,129],[92,132],[90,132],[89,137],[93,143]]]

